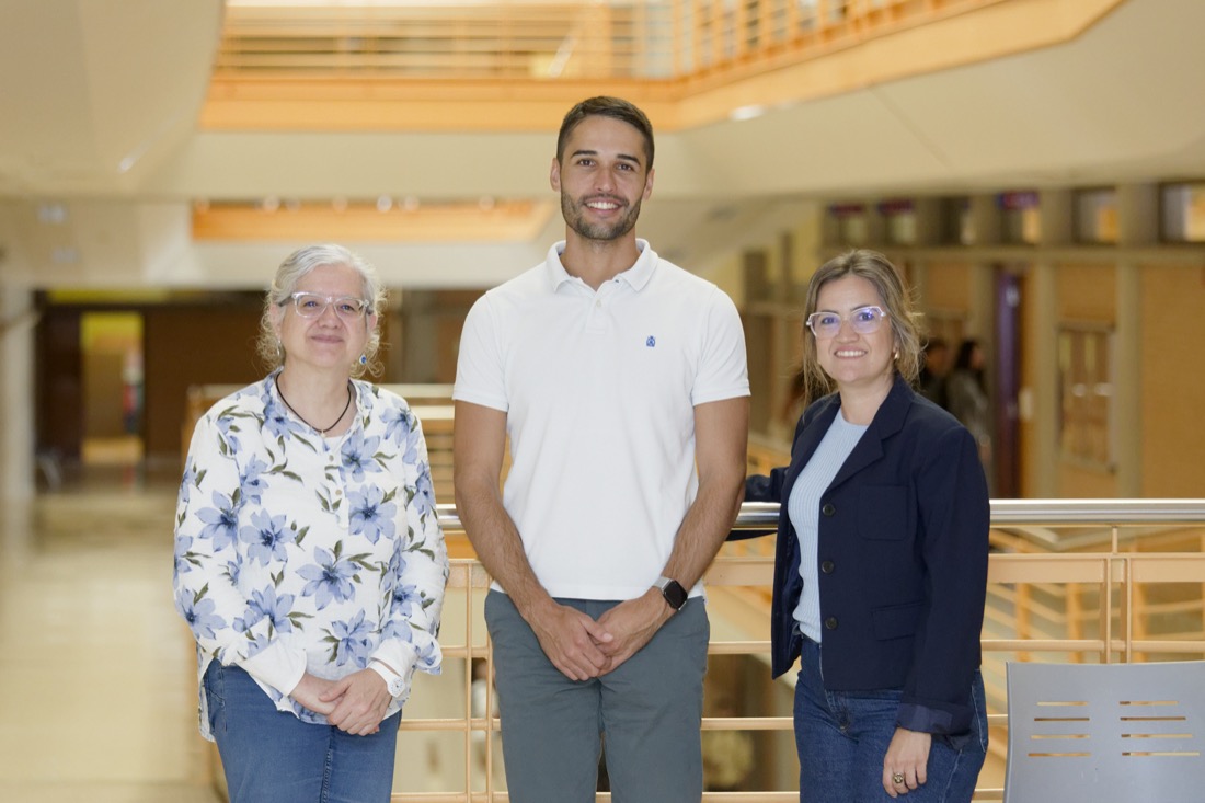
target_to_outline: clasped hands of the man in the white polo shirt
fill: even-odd
[[[656,588],[590,619],[548,598],[529,623],[545,655],[570,680],[600,678],[645,646],[674,611]]]

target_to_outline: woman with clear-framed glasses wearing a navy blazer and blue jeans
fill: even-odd
[[[790,464],[745,493],[781,505],[771,663],[799,658],[799,799],[965,803],[987,749],[975,439],[912,389],[921,338],[881,253],[824,263],[805,322],[813,395]]]

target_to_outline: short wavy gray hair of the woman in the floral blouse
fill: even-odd
[[[376,268],[368,260],[341,245],[311,245],[298,248],[286,257],[281,266],[276,269],[272,286],[264,295],[264,313],[259,318],[259,338],[255,342],[255,350],[270,371],[283,365],[287,357],[284,346],[276,336],[276,328],[272,326],[272,310],[287,304],[289,297],[296,291],[298,282],[316,268],[324,265],[346,265],[355,270],[360,275],[363,286],[362,298],[369,303],[368,315],[381,315],[381,310],[384,307],[386,289],[381,285]],[[368,315],[364,318],[365,327],[368,326]],[[365,362],[357,361],[352,365],[352,376],[363,376],[365,373],[378,374],[381,371],[381,363],[377,361],[380,348],[381,326],[378,317],[377,326],[374,326],[372,330],[369,332],[368,342],[364,345]]]

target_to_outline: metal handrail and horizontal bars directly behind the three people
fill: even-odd
[[[436,505],[440,524],[446,532],[463,532],[463,524],[453,504]],[[780,506],[775,503],[745,503],[741,505],[734,529],[768,531],[777,528]],[[997,588],[1010,590],[1007,593],[1019,593],[1024,586],[1046,587],[1076,585],[1084,588],[1095,587],[1100,596],[1101,611],[1098,615],[1098,633],[1065,633],[1062,638],[1047,638],[1042,633],[1033,633],[1024,638],[984,638],[984,658],[998,664],[1005,656],[1024,656],[1029,653],[1068,653],[1070,660],[1082,660],[1099,656],[1097,660],[1140,660],[1134,653],[1162,652],[1175,655],[1203,655],[1205,641],[1198,638],[1180,635],[1144,638],[1134,632],[1135,616],[1144,605],[1135,587],[1145,582],[1199,582],[1205,584],[1205,555],[1194,552],[1119,552],[1117,533],[1123,528],[1142,528],[1157,524],[1166,528],[1172,524],[1205,524],[1205,499],[995,499],[992,502],[992,526],[1001,528],[1105,528],[1113,533],[1112,550],[1093,553],[1050,552],[1036,555],[994,553],[989,568],[989,582]],[[1147,531],[1144,531],[1147,532]],[[747,543],[747,541],[746,541]],[[1058,546],[1057,544],[1054,545]],[[725,556],[716,561],[707,573],[709,584],[736,588],[740,586],[765,586],[770,580],[774,558],[770,555]],[[457,588],[465,594],[466,606],[471,599],[488,587],[489,579],[484,568],[474,559],[453,561],[449,590]],[[1121,608],[1106,593],[1116,588],[1124,600]],[[1019,604],[1019,603],[1018,603]],[[1205,605],[1205,600],[1201,600]],[[1121,616],[1115,622],[1115,616]],[[769,646],[766,640],[713,641],[709,653],[764,653]],[[482,657],[492,660],[488,643],[475,644],[470,633],[466,644],[445,645],[446,657]],[[992,656],[992,658],[989,658]],[[999,672],[999,667],[997,667]],[[465,679],[468,684],[468,678]],[[465,690],[468,697],[468,688]],[[993,728],[1007,726],[1005,714],[991,714],[989,725]],[[471,732],[496,732],[496,716],[465,717],[447,720],[410,720],[402,723],[402,731],[455,731],[465,734],[466,744]],[[753,717],[704,717],[701,728],[745,729],[745,731],[789,731],[793,727],[790,716],[753,716]],[[490,743],[492,744],[492,743]],[[493,761],[492,749],[490,757]],[[746,803],[787,803],[795,799],[798,792],[759,791],[739,795],[707,792],[705,801],[742,801]],[[983,785],[976,790],[975,801],[1000,801],[1000,787]],[[465,795],[440,793],[398,793],[396,803],[441,803],[446,801],[492,801],[509,799],[506,793],[490,789],[487,792]],[[610,796],[600,793],[598,799],[605,802]]]

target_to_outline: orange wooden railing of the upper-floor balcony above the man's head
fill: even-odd
[[[1004,0],[230,0],[214,77],[680,81],[781,66]]]

